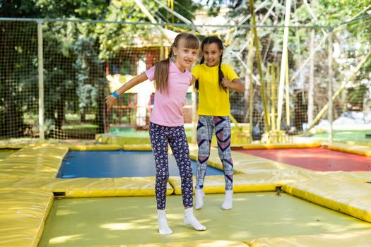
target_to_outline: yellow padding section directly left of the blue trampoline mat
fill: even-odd
[[[32,145],[24,147],[1,161],[0,176],[57,176],[68,147],[57,145]]]

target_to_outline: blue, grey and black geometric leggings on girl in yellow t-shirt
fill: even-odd
[[[196,188],[204,187],[207,161],[210,157],[211,138],[215,128],[218,142],[218,153],[223,163],[225,190],[231,191],[233,187],[233,162],[230,152],[230,119],[229,116],[199,116],[197,125],[197,144],[199,155],[197,160]]]

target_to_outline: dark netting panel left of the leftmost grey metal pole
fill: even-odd
[[[37,136],[37,25],[0,22],[0,138]]]

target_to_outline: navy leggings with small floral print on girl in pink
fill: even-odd
[[[150,123],[149,135],[156,166],[155,193],[157,209],[164,210],[166,205],[166,186],[169,179],[168,144],[172,149],[180,179],[184,207],[193,206],[192,164],[189,159],[189,147],[183,126],[167,127]]]

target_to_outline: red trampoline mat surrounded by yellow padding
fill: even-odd
[[[237,151],[314,171],[371,171],[371,157],[324,147]]]

